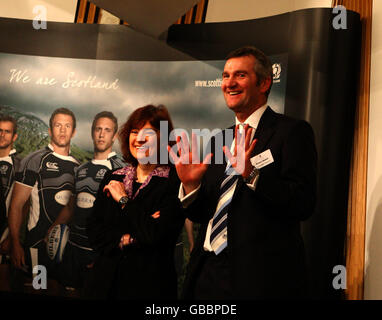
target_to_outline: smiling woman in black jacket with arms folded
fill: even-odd
[[[119,132],[130,165],[107,173],[98,191],[88,227],[98,254],[85,285],[88,298],[176,298],[174,248],[184,217],[175,168],[159,163],[169,140],[162,136],[160,146],[163,125],[173,130],[167,109],[148,105]]]

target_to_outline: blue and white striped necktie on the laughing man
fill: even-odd
[[[210,243],[216,255],[227,247],[228,207],[232,201],[237,181],[238,175],[229,164],[225,170],[225,178],[220,186],[220,197],[212,220]]]

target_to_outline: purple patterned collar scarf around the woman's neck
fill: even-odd
[[[142,183],[142,185],[139,187],[139,189],[137,190],[137,192],[134,195],[133,195],[133,183],[137,179],[137,168],[129,165],[129,166],[126,166],[122,169],[118,169],[118,170],[114,171],[113,174],[125,175],[125,177],[123,178],[123,184],[125,185],[125,191],[127,193],[127,196],[129,197],[129,199],[134,199],[138,195],[139,190],[143,189],[144,187],[146,187],[149,184],[149,182],[153,176],[168,178],[168,176],[170,174],[170,167],[168,167],[168,166],[156,167],[148,175],[145,182]]]

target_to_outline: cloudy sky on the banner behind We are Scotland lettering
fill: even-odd
[[[271,60],[281,73],[269,104],[283,112],[287,55]],[[223,129],[233,123],[220,89],[223,67],[224,61],[104,61],[0,53],[0,105],[45,123],[54,109],[71,109],[78,123],[73,142],[89,151],[91,122],[102,110],[112,111],[122,124],[138,107],[164,104],[176,128]]]

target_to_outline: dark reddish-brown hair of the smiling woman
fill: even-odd
[[[156,130],[160,130],[161,121],[167,121],[168,126],[168,136],[166,141],[168,141],[169,145],[174,144],[175,142],[170,143],[169,135],[171,131],[174,129],[172,124],[172,120],[167,108],[163,105],[146,105],[144,107],[136,109],[127,119],[127,121],[121,126],[119,130],[119,143],[121,146],[121,152],[123,158],[126,162],[132,164],[133,166],[138,165],[137,159],[135,159],[131,152],[129,146],[129,138],[130,132],[133,129],[142,128],[146,122],[149,122],[153,128]],[[159,144],[158,144],[159,145]],[[162,146],[167,147],[167,146]],[[167,152],[167,149],[166,149]]]

